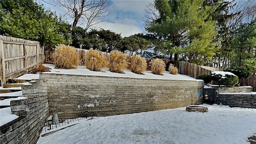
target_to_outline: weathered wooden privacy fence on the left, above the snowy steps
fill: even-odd
[[[1,86],[44,62],[40,42],[0,35]]]

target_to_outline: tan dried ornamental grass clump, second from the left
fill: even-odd
[[[85,66],[92,71],[100,71],[103,67],[108,67],[108,59],[100,54],[98,50],[89,50],[86,56]]]

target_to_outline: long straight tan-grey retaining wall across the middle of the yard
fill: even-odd
[[[202,102],[204,83],[197,80],[152,80],[104,76],[40,74],[48,86],[50,114],[96,116],[178,108]]]

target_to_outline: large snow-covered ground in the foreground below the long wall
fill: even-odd
[[[256,109],[207,107],[207,113],[183,107],[82,120],[37,144],[249,144]]]

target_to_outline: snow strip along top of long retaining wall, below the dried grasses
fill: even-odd
[[[51,72],[44,72],[44,73],[51,73],[51,74],[76,74],[76,75],[84,75],[84,76],[109,76],[109,77],[124,77],[124,78],[148,78],[148,79],[160,79],[160,80],[196,80],[190,76],[186,76],[183,74],[170,74],[170,72],[163,72],[163,76],[152,74],[151,71],[144,71],[143,74],[134,74],[131,70],[124,70],[125,74],[118,74],[115,72],[110,72],[108,68],[102,68],[104,72],[94,72],[90,71],[86,68],[86,66],[78,66],[77,69],[55,69],[53,64],[43,64],[49,68],[52,68]],[[196,80],[196,81],[203,81],[203,80]]]

